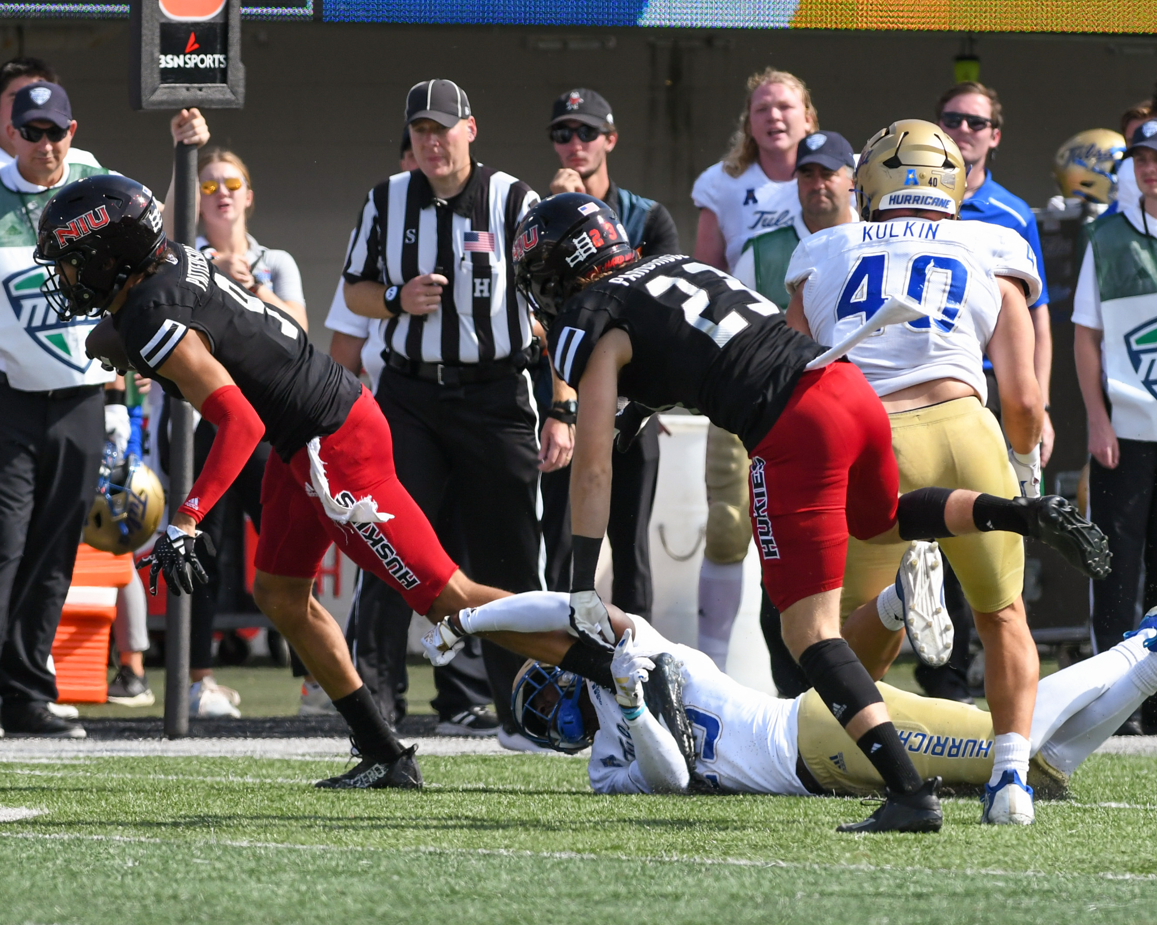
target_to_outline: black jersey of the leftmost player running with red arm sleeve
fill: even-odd
[[[314,437],[341,427],[361,393],[361,383],[315,350],[293,318],[183,245],[174,245],[161,268],[128,290],[113,325],[133,369],[176,398],[183,398],[180,390],[157,367],[190,328],[204,332],[287,462]]]

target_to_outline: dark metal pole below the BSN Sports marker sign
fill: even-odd
[[[197,147],[178,145],[174,151],[174,239],[192,245],[197,238]],[[170,405],[169,510],[180,504],[193,487],[193,409],[187,401]],[[189,734],[189,629],[192,599],[172,593],[164,615],[164,734]]]

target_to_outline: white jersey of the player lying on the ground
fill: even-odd
[[[670,652],[685,666],[683,703],[695,733],[695,770],[724,791],[806,797],[796,776],[798,698],[780,700],[746,688],[699,650],[663,638],[641,617],[632,620],[643,652]],[[591,789],[649,793],[614,695],[590,682],[587,690],[599,722],[588,764]]]

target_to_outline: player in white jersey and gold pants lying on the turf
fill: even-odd
[[[443,636],[466,634],[535,659],[515,682],[515,717],[524,734],[551,748],[576,752],[590,745],[590,785],[599,793],[880,791],[879,772],[815,689],[795,700],[752,690],[697,649],[609,609],[618,645],[613,656],[587,657],[585,684],[553,667],[570,661],[573,650],[587,649],[566,632],[566,594],[536,591],[463,610],[423,643],[436,661],[454,654],[441,648]],[[1040,681],[1030,775],[1048,796],[1061,796],[1069,775],[1157,693],[1157,654],[1149,649],[1157,649],[1157,615],[1141,627],[1113,649]],[[990,713],[884,683],[877,689],[921,775],[958,789],[988,780],[995,752]],[[644,700],[662,723],[643,709]]]

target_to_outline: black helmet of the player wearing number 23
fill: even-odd
[[[614,209],[587,193],[559,193],[528,212],[515,231],[515,286],[548,325],[584,282],[636,256]]]

